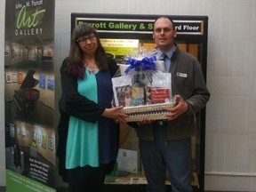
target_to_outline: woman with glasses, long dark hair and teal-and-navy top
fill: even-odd
[[[122,107],[111,108],[111,77],[116,61],[108,57],[88,24],[77,25],[69,57],[60,68],[62,94],[58,125],[60,176],[69,192],[101,191],[116,163]]]

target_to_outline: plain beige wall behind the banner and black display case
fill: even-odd
[[[4,108],[4,2],[0,1],[0,108]],[[255,0],[55,2],[56,92],[60,87],[60,63],[68,54],[71,12],[209,16],[207,84],[212,98],[206,111],[205,189],[256,191]],[[145,4],[149,5],[147,9],[143,9]],[[57,93],[57,99],[59,96]],[[4,109],[0,111],[0,122],[2,186]]]

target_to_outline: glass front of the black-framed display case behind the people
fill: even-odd
[[[107,43],[108,42],[108,43]],[[111,44],[109,44],[111,42]],[[135,55],[140,47],[150,51],[156,47],[153,40],[136,40],[136,39],[101,39],[102,45],[106,52],[114,55],[118,64],[124,63],[127,56]],[[188,42],[178,42],[180,50],[190,52],[199,62],[202,62],[202,44],[191,44]],[[192,157],[194,162],[194,174],[191,184],[199,188],[198,174],[200,173],[200,113],[198,118],[198,132],[192,137]],[[129,125],[121,126],[120,150],[118,154],[118,164],[116,169],[106,178],[106,184],[146,184],[147,180],[143,172],[143,166],[140,159],[138,137],[136,131]],[[168,176],[166,175],[166,178]],[[166,184],[170,185],[168,179]]]

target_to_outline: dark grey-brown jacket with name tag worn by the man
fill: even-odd
[[[172,54],[172,95],[180,96],[188,103],[188,112],[167,122],[167,140],[182,140],[196,134],[196,113],[204,108],[210,98],[202,68],[198,60],[188,52],[177,48]],[[154,140],[153,127],[143,124],[137,127],[140,140]]]

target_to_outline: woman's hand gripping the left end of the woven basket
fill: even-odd
[[[118,106],[116,108],[106,108],[102,114],[102,116],[112,118],[116,121],[116,123],[124,123],[126,124],[126,117],[128,117],[123,112],[123,106]]]

